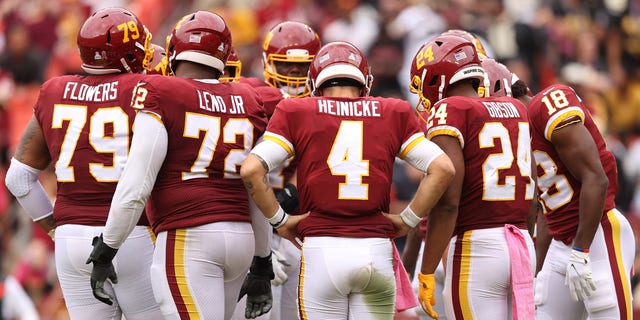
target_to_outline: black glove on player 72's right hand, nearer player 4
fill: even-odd
[[[271,264],[271,253],[269,256],[261,258],[254,256],[249,268],[249,273],[242,283],[238,300],[247,295],[247,307],[244,310],[244,317],[255,319],[271,310],[273,296],[271,295],[271,280],[273,265]]]

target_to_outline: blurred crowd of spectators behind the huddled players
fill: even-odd
[[[284,20],[305,22],[323,42],[346,40],[367,55],[375,76],[372,95],[402,97],[412,103],[409,64],[415,51],[447,29],[470,31],[484,41],[491,57],[527,82],[533,93],[552,83],[567,83],[592,108],[617,156],[617,206],[627,214],[639,239],[639,0],[3,0],[2,181],[32,115],[39,86],[51,77],[82,73],[78,29],[91,12],[109,6],[136,13],[154,35],[152,42],[161,46],[179,17],[212,10],[229,24],[243,75],[256,77],[262,77],[261,45],[266,31]],[[406,206],[418,181],[419,173],[397,163],[392,211]],[[51,170],[42,182],[54,195]],[[2,275],[18,279],[42,319],[67,319],[53,270],[51,239],[32,228],[20,210],[0,185]],[[636,261],[640,270],[640,259]],[[635,299],[640,310],[638,297],[640,292]]]

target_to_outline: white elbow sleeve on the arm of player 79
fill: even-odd
[[[53,205],[38,180],[39,175],[40,170],[13,158],[5,177],[7,189],[16,197],[33,221],[53,214]]]

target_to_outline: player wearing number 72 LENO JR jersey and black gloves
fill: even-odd
[[[271,308],[270,255],[252,262],[250,205],[239,175],[267,118],[250,86],[218,80],[231,47],[215,13],[197,11],[175,24],[166,48],[174,76],[148,76],[135,88],[130,157],[91,254],[108,267],[147,204],[157,234],[153,291],[168,319],[231,318],[250,268],[251,316]],[[95,265],[94,274],[102,268]]]

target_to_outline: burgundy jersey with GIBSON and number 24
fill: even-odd
[[[527,110],[518,100],[449,97],[431,110],[427,137],[455,137],[465,171],[454,234],[513,224],[526,229],[533,199]]]

